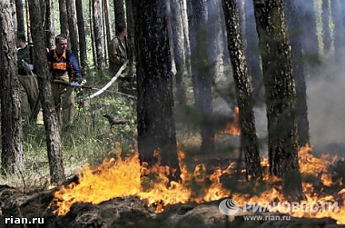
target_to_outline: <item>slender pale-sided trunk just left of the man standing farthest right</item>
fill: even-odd
[[[94,44],[96,48],[97,70],[101,75],[105,70],[104,58],[104,26],[102,16],[102,0],[93,0],[93,18],[94,18]]]

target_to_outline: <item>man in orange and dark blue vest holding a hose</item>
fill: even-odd
[[[67,50],[67,36],[56,35],[55,48],[47,54],[48,68],[53,78],[64,82],[79,82],[82,78],[78,60]],[[56,112],[60,117],[62,104],[63,129],[67,130],[74,121],[74,87],[52,84]]]

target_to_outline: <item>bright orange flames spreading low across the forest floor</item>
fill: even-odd
[[[207,174],[204,164],[198,164],[194,171],[189,173],[186,164],[183,164],[185,154],[182,152],[179,152],[182,183],[169,183],[165,175],[169,167],[157,164],[148,169],[145,165],[141,166],[138,153],[133,151],[133,155],[125,159],[105,159],[103,164],[97,167],[84,166],[79,173],[79,183],[71,183],[54,193],[52,205],[58,207],[56,214],[64,215],[69,212],[73,203],[98,204],[115,197],[137,195],[147,202],[148,206],[154,206],[156,213],[161,213],[167,204],[211,202],[232,195],[232,199],[243,206],[243,210],[254,208],[251,205],[256,204],[269,212],[288,213],[294,217],[331,217],[337,220],[337,223],[344,224],[345,189],[341,190],[342,180],[332,183],[331,174],[327,173],[336,160],[328,156],[314,157],[310,152],[309,145],[300,150],[301,173],[311,175],[319,185],[315,187],[313,182],[303,182],[305,200],[297,203],[289,203],[284,199],[279,178],[265,176],[264,190],[256,195],[232,192],[223,187],[221,177],[232,176],[234,163],[224,169],[215,167],[211,174]],[[261,164],[267,165],[267,159],[263,159]],[[206,180],[209,184],[205,184]],[[197,188],[193,188],[192,184]],[[338,190],[325,191],[325,188],[332,185],[337,185]],[[199,193],[195,193],[195,190]]]

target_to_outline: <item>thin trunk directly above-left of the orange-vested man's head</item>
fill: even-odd
[[[55,45],[55,27],[54,27],[54,5],[53,0],[45,1],[45,45],[53,49]]]

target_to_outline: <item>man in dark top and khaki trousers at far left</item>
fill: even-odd
[[[15,45],[17,47],[22,121],[24,124],[27,124],[29,121],[35,121],[38,113],[35,112],[36,110],[34,108],[38,102],[38,84],[36,75],[34,74],[33,45],[26,44],[24,34],[16,35]]]

